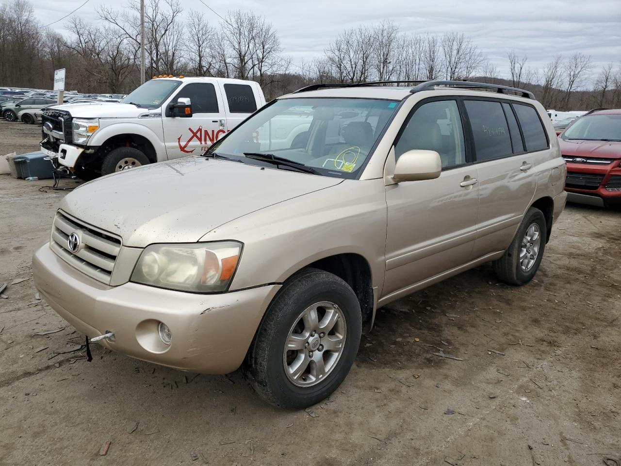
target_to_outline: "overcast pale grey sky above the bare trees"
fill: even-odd
[[[402,32],[464,32],[507,75],[506,54],[512,48],[528,56],[528,65],[540,68],[553,55],[574,52],[591,55],[594,75],[598,65],[621,61],[621,0],[204,0],[225,16],[229,9],[247,9],[265,16],[278,30],[283,55],[294,63],[322,55],[326,45],[343,29],[390,19]],[[84,0],[32,2],[43,24],[68,14]],[[96,21],[90,0],[75,15]],[[126,0],[106,0],[121,9]],[[219,22],[197,0],[181,0],[185,14],[201,9]],[[52,27],[62,30],[63,22]]]

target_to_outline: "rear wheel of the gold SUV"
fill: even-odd
[[[493,263],[498,278],[509,285],[524,285],[532,280],[542,262],[546,234],[543,212],[528,209],[509,249]]]

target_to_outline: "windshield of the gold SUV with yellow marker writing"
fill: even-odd
[[[248,163],[270,154],[321,175],[356,178],[397,109],[397,101],[353,98],[281,99],[236,127],[210,153]]]

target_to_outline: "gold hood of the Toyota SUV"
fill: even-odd
[[[341,182],[196,156],[90,181],[65,196],[60,208],[119,235],[126,246],[145,247],[196,242],[233,219]]]

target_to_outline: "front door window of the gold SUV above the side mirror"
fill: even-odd
[[[412,149],[435,150],[442,159],[442,168],[466,163],[464,134],[456,101],[429,102],[410,116],[395,145],[395,158]]]

